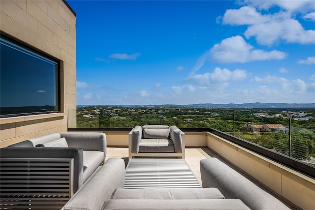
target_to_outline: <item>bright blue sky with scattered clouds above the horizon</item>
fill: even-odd
[[[315,103],[314,0],[67,0],[77,104]]]

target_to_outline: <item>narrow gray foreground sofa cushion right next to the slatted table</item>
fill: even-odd
[[[118,188],[113,199],[223,199],[217,188]]]

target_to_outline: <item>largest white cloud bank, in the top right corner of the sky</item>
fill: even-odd
[[[314,44],[315,30],[305,30],[295,19],[292,11],[305,10],[311,1],[247,1],[251,5],[239,9],[228,9],[223,16],[223,24],[248,25],[246,38],[255,37],[258,44],[273,45],[279,41],[288,43]],[[273,14],[261,14],[255,7],[268,9],[278,5],[284,10]],[[313,3],[313,7],[315,4]],[[303,8],[303,9],[302,9]],[[308,10],[307,10],[308,11]],[[312,11],[312,10],[311,10]],[[266,12],[265,12],[266,13]],[[306,17],[313,17],[312,13]]]

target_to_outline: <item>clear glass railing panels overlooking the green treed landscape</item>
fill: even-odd
[[[70,128],[133,128],[147,124],[214,128],[315,165],[314,108],[286,110],[85,106],[69,111]]]

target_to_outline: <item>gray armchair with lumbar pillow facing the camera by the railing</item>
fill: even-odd
[[[175,125],[135,126],[129,133],[129,158],[132,156],[179,156],[185,158],[185,134]],[[159,154],[160,153],[160,154]],[[163,154],[169,153],[169,154]],[[176,154],[174,154],[176,153]]]

